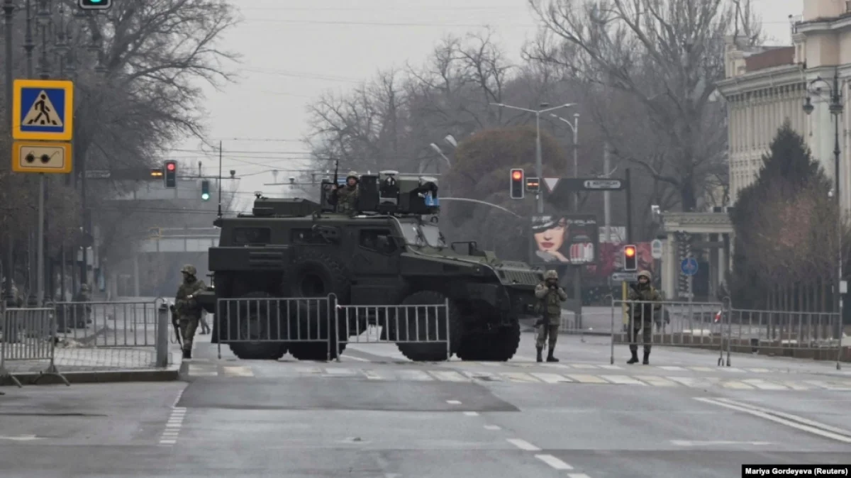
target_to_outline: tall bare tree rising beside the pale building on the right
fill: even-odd
[[[724,36],[734,19],[758,31],[752,15],[741,14],[743,1],[737,9],[723,0],[529,0],[544,26],[525,54],[637,101],[642,137],[654,147],[635,149],[637,137],[614,128],[609,140],[623,159],[671,185],[683,210],[694,210],[706,179],[723,178],[724,111],[712,85],[723,77]]]

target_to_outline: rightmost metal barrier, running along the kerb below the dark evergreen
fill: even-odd
[[[842,359],[837,313],[733,309],[729,315],[728,337],[734,352]]]

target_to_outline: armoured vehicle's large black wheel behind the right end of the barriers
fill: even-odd
[[[403,305],[441,305],[445,303],[446,296],[443,295],[443,293],[436,291],[420,291],[412,293],[402,301]],[[391,331],[391,339],[399,340],[399,342],[397,342],[399,351],[402,352],[403,356],[408,357],[408,359],[412,361],[448,360],[452,354],[458,351],[458,347],[461,343],[461,333],[463,329],[458,306],[455,305],[453,301],[449,301],[448,318],[444,313],[438,312],[435,314],[433,309],[429,310],[429,308],[426,307],[417,307],[416,310],[417,315],[420,317],[425,317],[427,314],[429,317],[428,321],[420,318],[418,325],[417,321],[414,321],[413,314],[408,313],[410,320],[408,320],[406,324],[403,324],[401,319],[405,316],[405,313],[400,312],[399,330]],[[394,324],[392,326],[394,329],[396,327],[395,322],[396,321],[391,321],[391,324]],[[428,323],[426,324],[426,322]],[[449,353],[447,354],[445,343],[435,342],[431,344],[423,344],[407,342],[407,340],[417,339],[417,327],[420,329],[420,339],[428,338],[430,340],[446,340],[448,333]]]

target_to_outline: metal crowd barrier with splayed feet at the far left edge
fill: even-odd
[[[71,385],[54,363],[56,348],[56,310],[54,307],[8,308],[3,310],[3,336],[0,338],[0,379],[9,378],[19,387],[20,380],[6,364],[13,361],[47,361],[48,366],[35,379],[55,375]]]

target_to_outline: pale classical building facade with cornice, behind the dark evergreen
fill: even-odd
[[[804,0],[803,14],[790,18],[792,45],[743,48],[728,38],[726,78],[718,90],[728,102],[730,203],[757,179],[762,155],[788,120],[806,140],[814,159],[834,178],[834,118],[828,107],[838,75],[844,109],[839,115],[839,189],[842,208],[851,212],[851,149],[848,131],[848,79],[851,78],[851,2]],[[821,78],[825,81],[816,81]],[[810,98],[814,111],[803,105]]]

